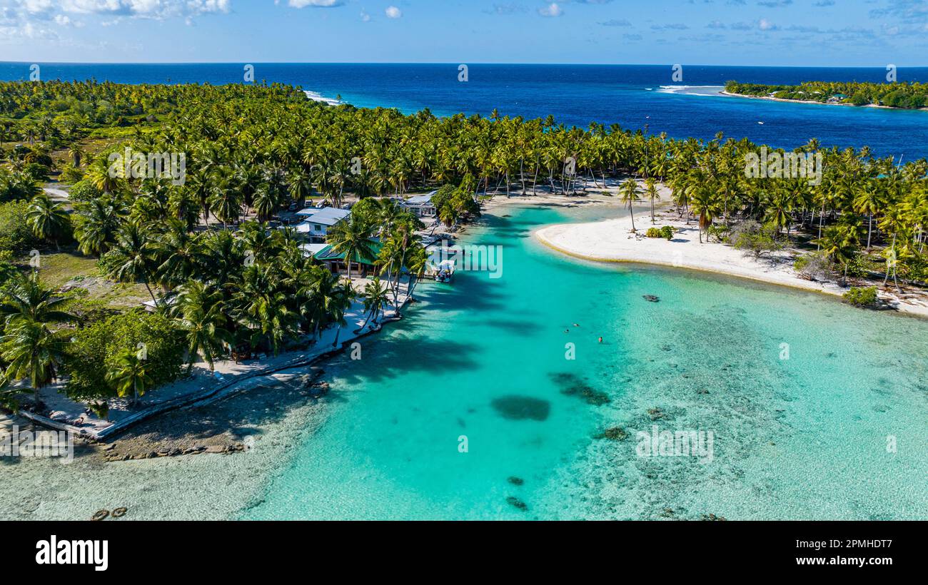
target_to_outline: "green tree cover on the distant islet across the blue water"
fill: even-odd
[[[928,106],[928,83],[805,82],[799,85],[762,85],[728,82],[730,94],[760,95],[820,103],[918,109]]]

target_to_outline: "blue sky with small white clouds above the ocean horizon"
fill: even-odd
[[[928,0],[0,0],[0,61],[928,65]]]

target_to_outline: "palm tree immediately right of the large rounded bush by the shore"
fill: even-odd
[[[180,326],[187,332],[187,374],[193,369],[197,356],[214,368],[214,359],[221,355],[224,342],[230,334],[223,327],[226,314],[221,292],[211,290],[199,281],[190,280],[181,287],[172,312],[179,318]]]

